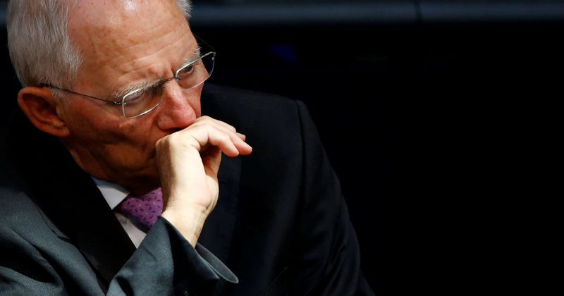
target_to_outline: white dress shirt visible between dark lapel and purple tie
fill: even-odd
[[[98,180],[96,178],[92,178],[96,186],[102,192],[104,199],[109,204],[110,208],[114,210],[116,206],[125,199],[129,195],[129,192],[125,190],[123,187],[113,183],[107,183],[102,180]],[[119,214],[118,212],[114,211],[116,217],[118,218],[119,223],[121,223],[121,227],[125,230],[125,233],[128,234],[131,242],[135,247],[139,247],[142,240],[147,236],[147,233],[143,232],[133,222],[129,220],[129,218]]]

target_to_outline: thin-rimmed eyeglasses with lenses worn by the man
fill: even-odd
[[[164,97],[166,82],[176,80],[178,86],[180,86],[183,92],[186,92],[188,90],[192,90],[198,85],[201,85],[209,78],[209,76],[212,75],[212,72],[214,71],[216,52],[202,39],[198,37],[196,37],[196,39],[198,41],[198,48],[195,53],[195,58],[176,70],[173,77],[159,79],[143,87],[130,90],[123,96],[120,96],[121,99],[109,101],[106,99],[92,97],[87,94],[81,94],[80,92],[74,92],[72,90],[65,90],[53,85],[47,86],[57,90],[79,94],[90,99],[97,99],[114,105],[121,105],[123,116],[126,118],[142,116],[157,108],[157,106],[161,104],[161,100]],[[204,54],[201,54],[202,52],[204,52]]]

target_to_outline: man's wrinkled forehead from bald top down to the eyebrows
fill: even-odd
[[[82,72],[107,87],[168,76],[196,49],[174,0],[78,1],[68,30],[82,52]]]

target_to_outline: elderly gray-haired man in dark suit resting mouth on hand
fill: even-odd
[[[1,294],[372,294],[305,106],[204,87],[189,12],[9,4]]]

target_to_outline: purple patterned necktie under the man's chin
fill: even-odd
[[[151,228],[163,212],[163,195],[161,187],[146,195],[128,195],[116,206],[116,211]]]

